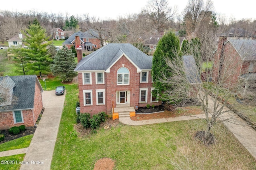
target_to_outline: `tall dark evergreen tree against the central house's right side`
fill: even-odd
[[[162,81],[163,77],[171,77],[172,70],[166,64],[165,57],[173,59],[177,57],[177,54],[180,51],[180,40],[175,36],[173,32],[169,32],[162,36],[159,40],[156,51],[153,54],[152,61],[152,75],[153,75],[153,86],[156,89],[160,99],[164,101],[163,92],[166,89],[170,89],[170,84],[164,84]],[[164,75],[163,75],[164,74]]]

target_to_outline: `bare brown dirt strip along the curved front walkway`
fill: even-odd
[[[198,115],[203,113],[204,112],[202,111],[202,109],[198,106],[186,106],[186,107],[178,107],[174,112],[164,110],[164,112],[161,112],[161,113],[136,114],[136,116],[131,117],[131,119],[133,121],[142,121],[142,120],[148,120],[148,119],[161,119],[161,118],[168,118],[168,117]]]

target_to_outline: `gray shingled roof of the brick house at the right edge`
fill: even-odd
[[[243,61],[256,60],[256,40],[228,40]]]

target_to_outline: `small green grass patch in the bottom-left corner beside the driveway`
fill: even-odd
[[[0,164],[0,170],[19,170],[21,161],[23,161],[25,154],[18,154],[12,156],[0,157],[0,161],[12,161],[14,164]]]

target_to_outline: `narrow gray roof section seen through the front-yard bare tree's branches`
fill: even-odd
[[[191,84],[202,83],[193,55],[183,55],[186,78]]]

